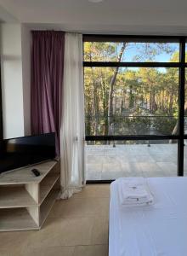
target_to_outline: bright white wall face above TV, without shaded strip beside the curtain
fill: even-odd
[[[1,70],[4,138],[24,136],[20,24],[1,25]]]

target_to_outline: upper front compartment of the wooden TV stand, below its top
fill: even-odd
[[[33,207],[37,203],[23,186],[0,187],[0,208]]]

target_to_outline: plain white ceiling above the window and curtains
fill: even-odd
[[[0,4],[11,17],[34,28],[187,34],[186,0],[0,0]]]

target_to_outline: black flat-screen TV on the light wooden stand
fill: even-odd
[[[54,158],[54,132],[0,141],[0,173]]]

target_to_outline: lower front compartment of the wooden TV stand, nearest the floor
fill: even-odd
[[[39,230],[26,208],[3,209],[0,219],[0,231]]]

